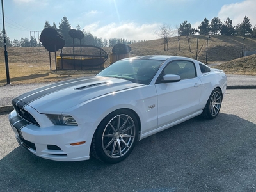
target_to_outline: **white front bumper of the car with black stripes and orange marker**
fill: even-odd
[[[91,124],[42,128],[26,122],[16,111],[12,111],[8,118],[18,143],[38,157],[54,161],[82,161],[90,158],[94,134]],[[70,145],[79,142],[83,144]]]

